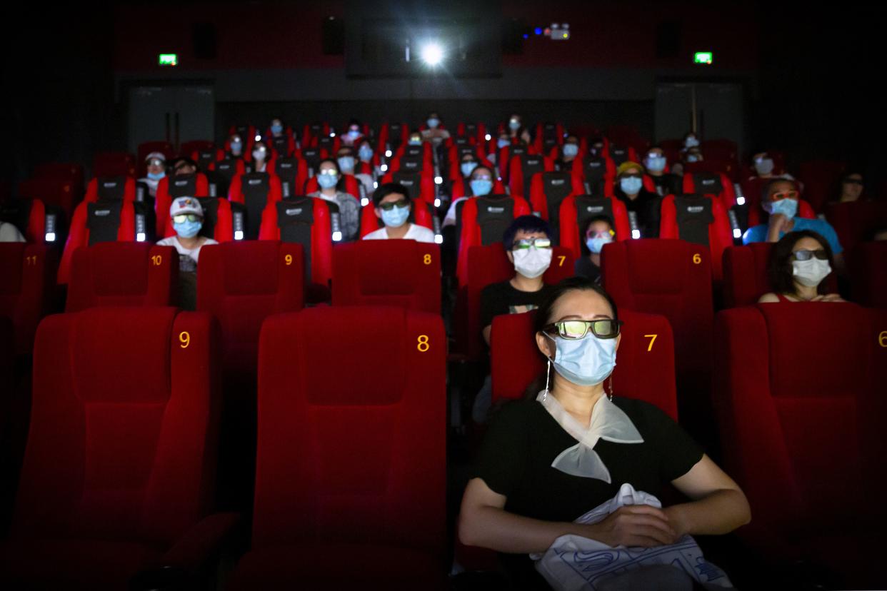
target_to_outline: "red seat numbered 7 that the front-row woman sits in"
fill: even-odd
[[[498,315],[490,332],[493,403],[520,399],[546,371],[533,322],[536,311]],[[619,310],[622,339],[616,352],[613,393],[637,398],[678,420],[674,385],[674,343],[664,316]]]

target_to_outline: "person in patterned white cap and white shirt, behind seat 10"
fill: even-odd
[[[173,246],[178,252],[178,307],[197,309],[197,261],[200,248],[217,245],[216,240],[200,236],[203,208],[196,198],[179,197],[169,206],[169,217],[176,236],[163,238],[158,245]]]

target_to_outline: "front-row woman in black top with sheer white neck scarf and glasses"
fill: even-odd
[[[562,535],[652,548],[750,521],[742,489],[679,424],[648,402],[613,396],[607,384],[620,324],[600,285],[583,277],[555,285],[535,317],[548,370],[528,397],[498,409],[484,436],[462,497],[459,540],[501,553],[514,588],[549,588],[528,555]],[[597,523],[574,522],[624,484],[658,498],[671,485],[688,500],[663,509],[624,505]]]

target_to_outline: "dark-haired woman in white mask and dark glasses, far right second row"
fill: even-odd
[[[824,279],[832,272],[832,252],[828,240],[809,229],[789,232],[770,252],[767,274],[773,292],[757,301],[844,301],[828,293]]]

